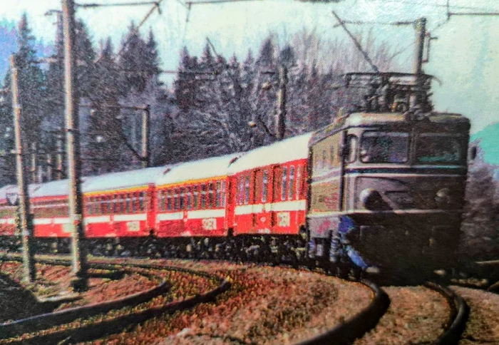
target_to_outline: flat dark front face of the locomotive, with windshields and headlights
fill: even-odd
[[[344,212],[358,227],[352,245],[384,267],[448,267],[461,232],[468,119],[390,115],[393,123],[349,130]]]

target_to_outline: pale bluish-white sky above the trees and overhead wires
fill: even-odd
[[[206,37],[213,42],[217,53],[225,56],[235,53],[240,59],[249,47],[257,51],[269,33],[281,42],[304,29],[314,31],[323,41],[348,39],[341,28],[334,27],[336,21],[331,11],[352,21],[413,21],[425,16],[428,31],[437,37],[431,41],[430,61],[423,66],[426,73],[438,78],[433,83],[436,110],[468,116],[473,132],[499,121],[499,16],[451,16],[448,20],[447,0],[344,0],[329,4],[255,0],[197,4],[192,5],[190,11],[183,1],[163,0],[162,13],[150,16],[141,29],[143,34],[150,29],[154,31],[164,69],[178,66],[182,46],[187,46],[192,54],[200,54]],[[497,0],[450,0],[450,4],[453,12],[499,11]],[[51,44],[56,33],[56,18],[44,15],[49,9],[61,9],[61,1],[11,0],[0,6],[0,23],[15,25],[26,11],[36,37],[44,44]],[[111,36],[118,43],[130,21],[140,22],[149,10],[150,6],[80,8],[77,16],[85,21],[94,42]],[[379,41],[403,50],[398,59],[401,71],[411,71],[415,40],[412,26],[350,25],[349,29],[356,35],[371,30]]]

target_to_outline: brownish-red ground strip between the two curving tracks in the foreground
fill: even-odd
[[[158,316],[93,344],[289,344],[309,339],[366,308],[370,289],[309,271],[255,264],[165,260],[230,277],[215,302]]]

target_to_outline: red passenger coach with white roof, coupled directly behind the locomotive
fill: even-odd
[[[297,235],[307,211],[312,133],[249,151],[230,166],[234,235]]]

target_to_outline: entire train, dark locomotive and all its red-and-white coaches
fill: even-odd
[[[271,257],[339,272],[451,267],[470,121],[431,110],[430,79],[351,73],[349,86],[368,85],[364,102],[314,132],[244,153],[84,177],[88,252]],[[30,185],[29,195],[38,252],[67,251],[68,181]],[[0,189],[4,248],[19,247],[16,196],[16,185]]]

